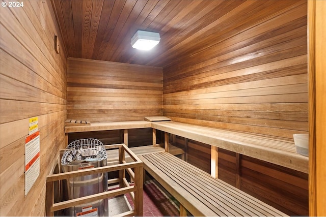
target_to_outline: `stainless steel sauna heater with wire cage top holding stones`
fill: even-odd
[[[79,139],[71,142],[61,159],[62,172],[106,166],[106,151],[98,139]],[[107,191],[107,173],[79,176],[63,180],[62,201]],[[68,216],[108,216],[108,199],[67,208]]]

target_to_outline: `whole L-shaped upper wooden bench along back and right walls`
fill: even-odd
[[[145,117],[145,120],[138,121],[92,122],[91,125],[85,126],[66,126],[65,132],[124,130],[124,143],[128,145],[128,129],[152,128],[153,146],[157,146],[156,130],[160,130],[166,134],[170,133],[209,144],[212,148],[223,148],[262,161],[308,173],[308,158],[296,153],[293,141],[166,120],[171,119],[154,116]],[[166,140],[167,138],[166,136]],[[166,144],[165,150],[169,152],[169,145]],[[217,156],[215,157],[217,158]]]

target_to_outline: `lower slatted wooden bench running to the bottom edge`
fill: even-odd
[[[285,216],[264,202],[213,178],[167,152],[139,156],[144,169],[195,216]]]

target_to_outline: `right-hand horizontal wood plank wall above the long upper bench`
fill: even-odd
[[[260,7],[251,3],[239,14]],[[307,1],[269,4],[250,19],[232,13],[220,18],[232,27],[203,33],[207,46],[163,69],[164,115],[268,137],[307,133]]]

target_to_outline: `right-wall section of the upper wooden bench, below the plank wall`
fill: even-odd
[[[256,134],[190,125],[175,121],[151,122],[151,127],[269,163],[308,173],[308,158],[296,153],[294,142]]]

